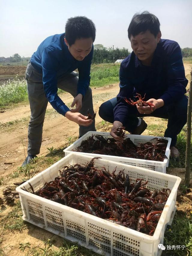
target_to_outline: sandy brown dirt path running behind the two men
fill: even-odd
[[[185,64],[185,75],[190,74],[192,64]],[[119,92],[119,83],[104,86],[100,88],[92,88],[94,110],[99,110],[99,106],[110,98],[116,97]],[[62,94],[61,99],[66,103],[72,102],[70,94]],[[78,125],[68,121],[63,116],[54,112],[52,106],[48,104],[47,114],[44,121],[43,140],[40,155],[47,153],[47,147],[57,148],[67,142],[67,138],[73,134],[78,136]],[[30,116],[29,104],[21,105],[14,109],[6,110],[0,113],[0,124],[10,122],[10,126],[1,128],[0,132],[0,177],[7,175],[13,170],[16,170],[25,159],[24,150],[21,142],[23,138],[25,149],[27,149],[27,123]],[[25,119],[25,122],[22,120]],[[19,120],[19,121],[17,121]],[[17,125],[12,125],[11,122],[17,122]],[[97,114],[96,125],[102,119]],[[147,118],[150,122],[158,123],[158,119]],[[144,134],[148,134],[147,131]]]

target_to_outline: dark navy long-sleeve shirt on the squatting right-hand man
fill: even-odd
[[[119,80],[120,91],[114,108],[114,121],[123,124],[128,115],[125,97],[134,100],[136,93],[143,97],[146,93],[144,101],[151,98],[162,99],[165,106],[179,100],[186,93],[185,87],[188,83],[179,44],[161,39],[155,49],[151,66],[142,65],[132,52],[121,63]]]

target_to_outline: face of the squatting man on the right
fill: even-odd
[[[143,65],[151,65],[153,54],[160,39],[161,32],[155,37],[149,30],[136,36],[131,35],[131,48]]]

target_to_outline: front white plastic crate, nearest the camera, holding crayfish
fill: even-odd
[[[151,191],[170,188],[170,196],[153,236],[140,233],[22,190],[25,187],[28,191],[31,191],[28,183],[30,182],[36,191],[43,187],[45,182],[54,180],[59,174],[58,170],[62,167],[76,163],[86,164],[91,159],[92,157],[88,155],[71,153],[16,188],[21,201],[23,220],[70,241],[78,242],[80,245],[106,256],[161,255],[162,250],[158,249],[158,244],[163,244],[164,231],[167,225],[171,225],[176,210],[177,189],[181,181],[181,178],[177,176],[157,173],[106,159],[95,159],[95,166],[105,166],[106,170],[110,170],[111,172],[116,166],[120,170],[125,168],[125,174],[129,174],[131,182],[135,182],[139,178],[149,180],[146,187]]]

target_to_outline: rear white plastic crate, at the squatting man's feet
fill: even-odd
[[[106,138],[112,138],[109,132],[88,131],[80,139],[76,140],[73,144],[71,144],[70,146],[68,146],[66,149],[63,150],[65,152],[65,155],[68,155],[69,153],[73,152],[74,149],[76,149],[78,146],[80,146],[82,140],[86,140],[92,134],[94,134],[94,135],[98,134],[98,135],[103,135]],[[130,140],[135,145],[140,145],[140,143],[146,143],[154,138],[162,138],[162,137],[127,134],[126,138],[130,138]],[[166,173],[166,167],[168,167],[168,165],[169,165],[171,138],[168,138],[168,137],[163,137],[163,138],[168,140],[167,148],[166,148],[166,152],[165,152],[165,155],[167,156],[167,158],[165,158],[163,162],[144,160],[144,159],[136,159],[136,158],[128,158],[128,157],[119,157],[119,156],[113,156],[113,155],[100,155],[100,154],[84,153],[84,152],[76,152],[76,153],[80,154],[80,155],[86,154],[86,155],[90,155],[92,157],[100,156],[104,159],[108,159],[108,160],[115,161],[118,163],[130,164],[130,165],[146,168],[149,170],[154,170],[154,171],[161,172],[161,173]],[[97,139],[97,138],[94,137],[94,139]]]

